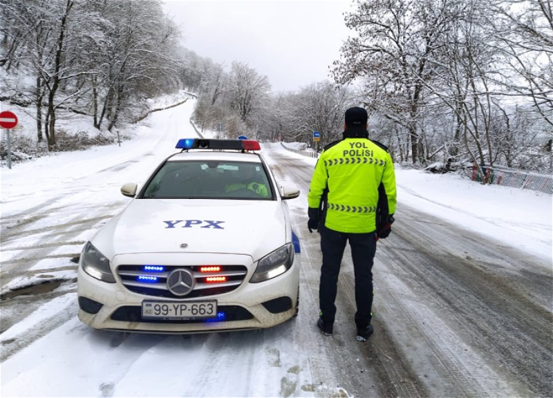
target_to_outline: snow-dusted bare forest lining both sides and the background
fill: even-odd
[[[98,131],[136,122],[148,99],[187,90],[194,122],[221,138],[341,138],[346,108],[396,162],[552,173],[549,0],[366,0],[328,79],[293,92],[245,61],[191,50],[158,0],[0,0],[0,100],[32,109],[36,140],[61,150],[62,111]]]

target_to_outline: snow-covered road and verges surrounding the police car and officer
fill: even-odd
[[[302,192],[289,202],[302,245],[297,319],[269,330],[184,336],[102,332],[80,323],[71,258],[129,201],[120,186],[143,182],[179,138],[194,135],[193,106],[190,100],[153,113],[121,147],[2,170],[1,396],[553,396],[551,196],[495,187],[503,214],[518,201],[530,208],[518,218],[491,210],[485,217],[463,213],[461,199],[448,201],[456,193],[446,188],[440,197],[425,196],[424,187],[402,179],[415,178],[411,171],[398,170],[397,222],[375,259],[376,332],[368,343],[355,341],[346,255],[335,336],[327,338],[315,326],[319,237],[305,227],[315,160],[280,144],[263,144],[262,153],[277,179]],[[454,185],[426,178],[435,178],[433,189]],[[471,199],[490,188],[454,182],[467,183]],[[443,214],[456,209],[460,218],[477,220],[476,230]]]

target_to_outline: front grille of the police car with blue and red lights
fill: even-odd
[[[203,272],[207,267],[209,272]],[[120,265],[118,276],[128,290],[145,296],[166,297],[171,299],[191,299],[194,297],[214,296],[232,292],[244,281],[247,268],[243,265]],[[187,269],[194,278],[193,289],[185,296],[169,291],[167,277],[175,269]],[[207,278],[214,278],[208,282]]]

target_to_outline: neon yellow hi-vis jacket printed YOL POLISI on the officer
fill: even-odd
[[[388,214],[395,213],[395,172],[392,158],[384,148],[368,138],[345,138],[322,151],[311,180],[308,205],[319,209],[323,193],[328,190],[324,220],[327,228],[355,234],[375,231],[381,185]]]

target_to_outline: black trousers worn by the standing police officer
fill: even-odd
[[[319,306],[325,323],[332,324],[336,315],[338,275],[346,243],[349,241],[353,269],[355,272],[355,324],[364,328],[371,323],[373,307],[373,260],[376,252],[376,232],[370,234],[348,234],[333,231],[327,227],[321,229],[321,250],[323,265],[319,284]]]

